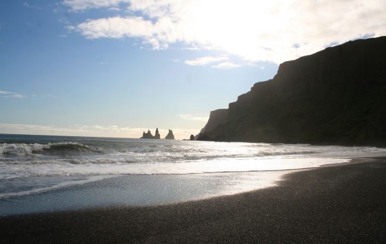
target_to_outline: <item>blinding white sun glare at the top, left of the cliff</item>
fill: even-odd
[[[219,8],[221,6],[221,8]],[[277,30],[279,18],[272,15],[276,11],[273,3],[242,1],[235,5],[227,1],[203,1],[189,12],[194,25],[186,27],[199,36],[200,40],[212,48],[241,54],[244,57],[265,56],[265,47],[271,32]],[[251,47],[255,47],[251,49]]]

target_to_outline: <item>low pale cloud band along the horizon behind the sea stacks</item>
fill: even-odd
[[[40,125],[19,125],[0,124],[0,133],[5,134],[27,134],[27,135],[57,135],[57,136],[88,136],[88,137],[121,137],[140,138],[147,128],[130,128],[118,126],[100,125],[68,125],[68,126],[40,126]],[[176,139],[188,139],[191,134],[197,135],[200,129],[172,129]],[[152,134],[155,128],[150,129]],[[159,129],[161,138],[165,138],[168,129]]]

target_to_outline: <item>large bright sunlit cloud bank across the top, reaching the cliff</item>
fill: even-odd
[[[363,36],[386,35],[384,0],[66,0],[71,11],[124,6],[126,17],[71,26],[86,38],[140,38],[153,49],[180,42],[245,61],[281,63]]]

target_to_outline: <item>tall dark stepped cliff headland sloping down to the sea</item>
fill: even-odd
[[[211,112],[198,140],[386,146],[386,37],[280,64]]]

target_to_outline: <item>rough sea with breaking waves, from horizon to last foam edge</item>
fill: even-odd
[[[86,182],[73,177],[280,171],[384,155],[374,147],[23,136],[0,143],[0,198]]]

